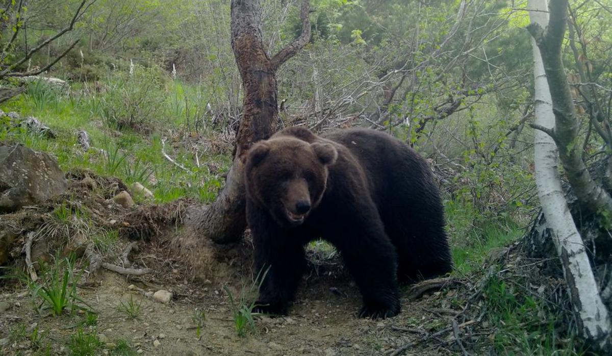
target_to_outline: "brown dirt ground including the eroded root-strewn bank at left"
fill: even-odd
[[[138,251],[130,254],[133,267],[154,272],[125,276],[100,269],[89,273],[88,258],[81,257],[77,266],[84,273],[78,295],[98,316],[92,327],[83,325],[83,313],[38,314],[26,286],[0,280],[0,303],[6,309],[0,309],[0,355],[34,355],[47,345],[51,354],[70,354],[70,337],[80,327],[97,334],[103,346],[96,354],[101,355],[116,354],[114,347],[121,341],[129,343],[131,354],[144,355],[445,355],[461,354],[464,344],[482,349],[482,340],[490,333],[474,319],[479,306],[470,303],[468,296],[476,287],[457,278],[423,289],[402,287],[402,311],[397,317],[359,319],[361,297],[340,259],[322,258],[315,252],[289,315],[256,316],[255,332],[239,336],[224,286],[237,297],[252,284],[253,247],[248,235],[237,245],[213,245],[183,227],[189,215],[186,201],[123,209],[108,200],[125,188],[121,182],[93,177],[97,184],[92,184],[80,172],[69,177],[65,196],[2,218],[12,219],[12,226],[21,231],[35,231],[43,224],[58,239],[62,231],[84,234],[78,221],[61,222],[60,229],[50,223],[54,209],[64,204],[91,219],[95,228],[87,231],[90,234],[119,226],[118,241],[100,253],[103,261],[120,264],[121,251],[136,242]],[[23,235],[13,245],[12,265],[23,269]],[[48,245],[65,249],[57,241]],[[173,293],[170,303],[151,298],[160,289]],[[130,299],[141,306],[136,319],[120,308],[121,302]],[[38,350],[28,337],[34,330],[42,337]]]

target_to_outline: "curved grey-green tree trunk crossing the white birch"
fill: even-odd
[[[570,185],[585,207],[595,213],[612,212],[612,198],[589,174],[578,144],[578,121],[573,107],[567,76],[561,56],[561,43],[567,24],[567,0],[552,0],[550,21],[531,23],[528,30],[535,39],[546,72],[553,102],[554,128],[544,128],[559,149],[559,157]],[[545,30],[545,26],[548,25]],[[539,130],[542,127],[534,126]]]

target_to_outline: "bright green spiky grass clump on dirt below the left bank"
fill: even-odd
[[[76,309],[87,310],[80,305],[86,303],[76,293],[81,275],[75,273],[73,256],[57,258],[51,266],[42,264],[41,271],[41,278],[37,281],[22,277],[32,291],[37,310],[50,310],[53,316],[59,316],[67,309],[71,313]]]

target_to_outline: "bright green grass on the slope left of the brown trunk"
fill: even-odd
[[[202,135],[204,141],[216,135],[203,127],[210,118],[202,106],[206,105],[205,100],[211,95],[207,91],[211,89],[177,81],[162,85],[156,76],[147,69],[136,70],[133,77],[115,73],[103,80],[102,92],[90,91],[78,83],[70,90],[60,91],[44,82],[32,82],[26,93],[0,108],[7,113],[16,111],[21,117],[39,118],[57,137],[33,135],[10,125],[5,117],[0,122],[0,141],[17,142],[53,154],[64,171],[89,169],[103,176],[116,176],[127,185],[140,182],[154,193],[158,203],[183,197],[212,201],[222,186],[222,177],[219,172],[209,173],[206,166],[198,167],[192,146],[182,142],[184,136],[192,134]],[[149,85],[153,82],[157,84]],[[146,103],[155,105],[144,105],[152,109],[141,113],[138,110],[143,106],[143,97]],[[138,116],[134,118],[138,124],[130,127],[131,124],[109,122],[109,112],[116,108],[123,108],[123,114],[115,110],[113,120],[123,120],[127,113]],[[197,133],[196,121],[200,123]],[[80,130],[88,132],[91,138],[92,148],[87,152],[76,141],[76,132]],[[185,166],[187,172],[163,157],[162,138],[168,140],[166,154]],[[203,165],[212,163],[221,171],[231,165],[228,155],[202,157],[202,152],[198,153]]]

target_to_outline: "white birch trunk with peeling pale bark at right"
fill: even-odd
[[[548,23],[547,1],[529,0],[529,9],[531,10],[529,15],[532,23],[530,28],[541,29],[548,23],[548,31],[559,31],[555,27],[558,24],[554,21],[559,21],[560,13],[553,11],[554,7],[559,6],[567,7],[567,0],[553,0],[551,21]],[[561,21],[564,21],[563,17],[561,17]],[[555,33],[559,34],[559,32]],[[559,43],[562,39],[562,33]],[[599,293],[597,293],[599,289],[586,248],[573,222],[561,188],[561,179],[557,169],[559,139],[553,139],[553,136],[550,135],[550,133],[554,135],[554,132],[558,132],[555,128],[556,122],[559,122],[559,115],[557,114],[559,109],[553,113],[553,104],[558,108],[559,102],[567,100],[567,98],[559,97],[562,93],[560,93],[558,87],[553,89],[553,85],[558,84],[555,81],[558,78],[553,80],[547,78],[551,74],[561,74],[559,72],[550,73],[550,63],[543,61],[540,55],[539,46],[541,48],[542,43],[536,43],[536,39],[537,37],[534,36],[531,42],[534,53],[535,126],[539,128],[535,132],[535,181],[538,194],[548,229],[561,259],[565,280],[572,299],[573,311],[580,331],[586,339],[600,349],[610,350],[610,316]],[[551,40],[549,39],[548,42],[551,42]],[[546,70],[545,65],[548,65]],[[555,97],[556,95],[557,97]],[[569,102],[562,104],[561,108],[567,109],[567,106],[573,109],[571,97]],[[562,135],[567,135],[567,133]],[[567,148],[561,149],[561,151],[563,150],[568,151]]]

